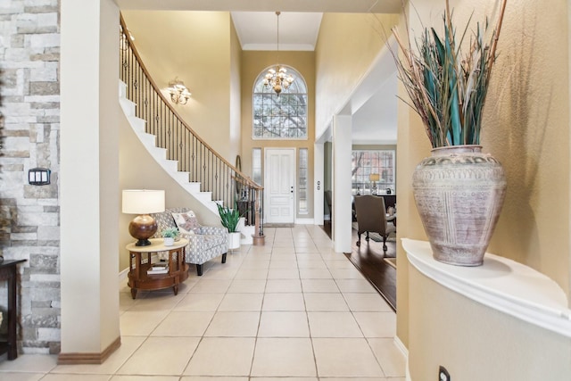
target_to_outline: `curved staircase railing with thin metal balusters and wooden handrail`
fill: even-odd
[[[236,201],[246,224],[255,225],[253,243],[263,244],[263,187],[214,151],[174,110],[146,70],[122,16],[120,79],[127,85],[128,100],[137,104],[136,116],[146,121],[145,132],[167,150],[167,159],[178,161],[178,170],[188,172],[188,181],[200,183],[201,191],[211,192],[215,202],[233,207]]]

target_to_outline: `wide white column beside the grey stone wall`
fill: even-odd
[[[62,0],[62,354],[120,337],[118,282],[119,9]]]

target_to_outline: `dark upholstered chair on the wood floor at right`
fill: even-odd
[[[357,214],[357,245],[360,246],[360,235],[378,233],[383,237],[383,252],[386,253],[386,238],[396,232],[396,227],[386,222],[385,199],[376,195],[356,195],[355,213]]]

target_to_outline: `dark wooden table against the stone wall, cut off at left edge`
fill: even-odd
[[[8,282],[8,309],[6,311],[8,322],[8,335],[6,340],[0,341],[0,355],[8,352],[8,360],[15,360],[18,357],[17,325],[18,303],[18,264],[27,260],[3,261],[0,263],[0,280]]]

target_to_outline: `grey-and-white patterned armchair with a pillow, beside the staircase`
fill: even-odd
[[[194,212],[184,207],[170,208],[152,216],[158,225],[156,237],[160,237],[165,228],[178,228],[180,235],[188,239],[186,263],[196,265],[198,276],[203,275],[203,264],[219,255],[222,255],[222,263],[226,263],[227,228],[202,226]]]

